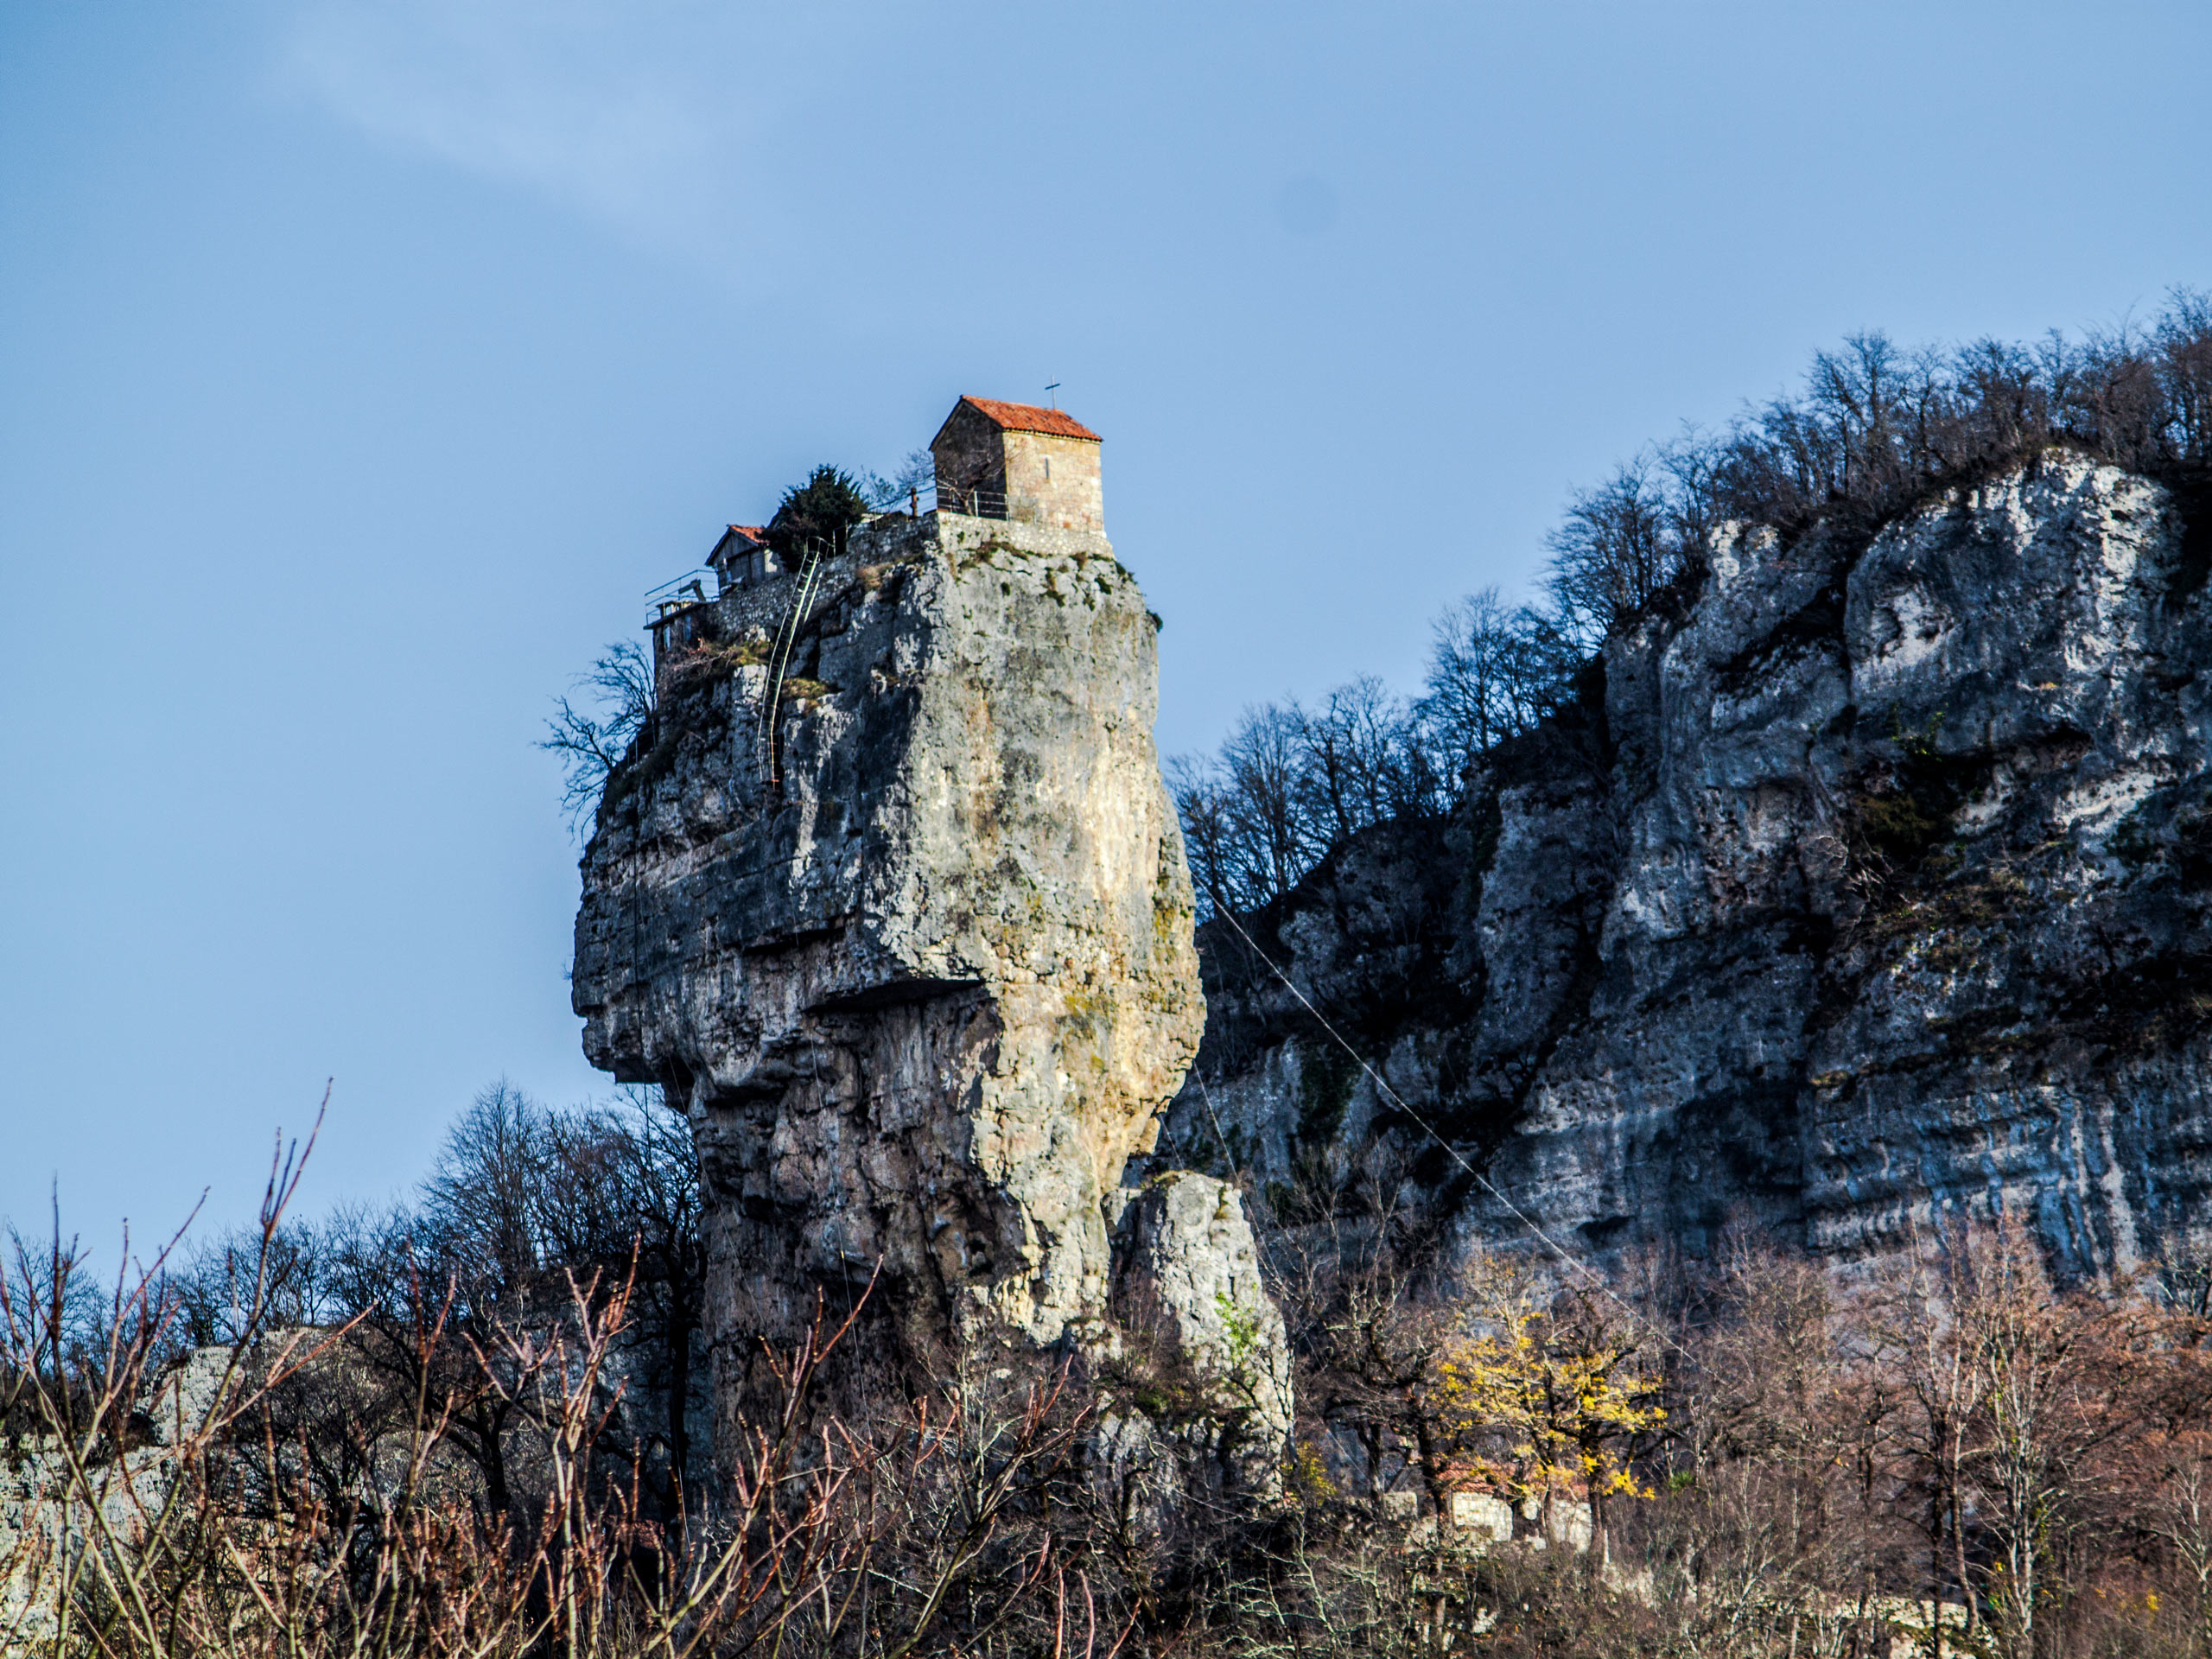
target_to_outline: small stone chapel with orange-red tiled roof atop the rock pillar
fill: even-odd
[[[1066,409],[960,398],[929,440],[938,511],[1104,531],[1099,436]]]

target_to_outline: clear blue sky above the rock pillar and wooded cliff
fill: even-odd
[[[960,392],[1106,436],[1161,745],[1420,672],[1577,482],[1860,327],[2212,283],[2203,4],[0,9],[0,1214],[604,1079],[533,748]]]

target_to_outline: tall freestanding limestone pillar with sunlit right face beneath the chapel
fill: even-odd
[[[1104,535],[931,513],[690,626],[584,856],[575,1009],[690,1113],[717,1374],[878,1261],[914,1336],[1060,1338],[1203,1026],[1157,619]]]

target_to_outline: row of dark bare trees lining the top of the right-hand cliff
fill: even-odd
[[[2053,445],[2170,484],[2212,535],[2212,294],[2177,292],[2148,327],[2079,343],[1905,352],[1856,334],[1814,356],[1796,396],[1575,491],[1540,599],[1484,588],[1451,606],[1418,697],[1363,677],[1321,708],[1261,703],[1217,754],[1172,765],[1201,909],[1256,909],[1369,823],[1447,812],[1475,759],[1575,695],[1608,635],[1697,595],[1721,524],[1865,540]]]

